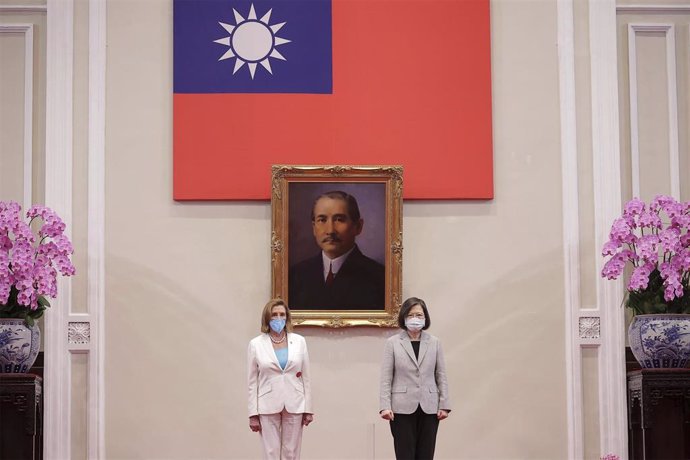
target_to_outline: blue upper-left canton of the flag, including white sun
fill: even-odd
[[[175,93],[333,92],[330,0],[174,0]]]

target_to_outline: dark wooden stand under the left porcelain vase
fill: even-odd
[[[0,374],[0,459],[43,458],[43,379]]]

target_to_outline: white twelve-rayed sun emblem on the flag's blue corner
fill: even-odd
[[[268,58],[287,60],[276,49],[278,45],[290,43],[290,40],[276,35],[286,23],[281,22],[280,24],[269,25],[268,21],[271,18],[271,11],[273,9],[268,10],[261,19],[256,19],[256,11],[254,11],[254,5],[252,4],[249,8],[249,15],[245,19],[233,8],[232,12],[235,13],[236,24],[218,23],[230,34],[228,37],[213,41],[229,48],[218,60],[237,58],[235,68],[232,71],[233,75],[245,64],[249,68],[252,80],[254,79],[254,73],[256,73],[257,64],[261,64],[264,69],[268,70],[268,73],[273,75]]]

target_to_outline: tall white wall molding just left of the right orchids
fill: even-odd
[[[627,458],[624,316],[622,283],[597,277],[597,308],[582,308],[580,295],[579,190],[573,0],[558,2],[558,58],[561,103],[563,257],[567,369],[568,458],[584,458],[582,350],[599,349],[600,451]],[[592,154],[595,247],[599,248],[621,206],[616,5],[589,1]],[[575,171],[575,173],[574,173]]]

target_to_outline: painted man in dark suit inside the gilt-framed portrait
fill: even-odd
[[[385,266],[365,255],[358,245],[366,232],[365,224],[359,203],[351,193],[330,190],[316,196],[311,206],[311,238],[321,250],[291,265],[288,275],[290,308],[384,308]],[[313,243],[311,245],[313,247]]]

